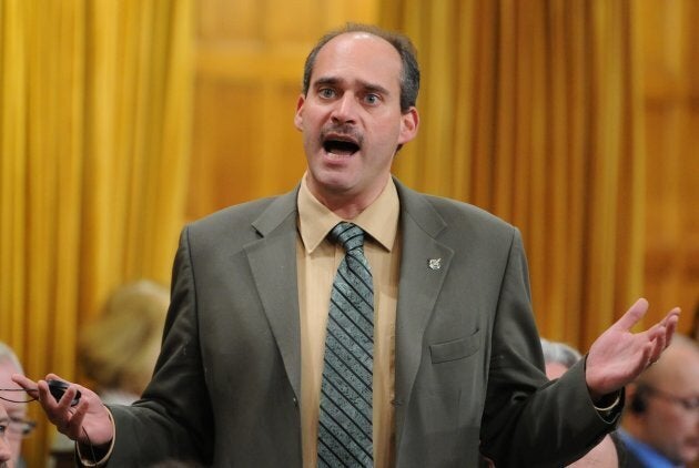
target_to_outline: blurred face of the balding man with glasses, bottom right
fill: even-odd
[[[671,356],[677,360],[673,369],[654,384],[667,395],[651,393],[646,398],[642,438],[673,462],[691,465],[699,459],[699,408],[688,409],[668,396],[699,397],[699,356],[690,349],[679,352]]]

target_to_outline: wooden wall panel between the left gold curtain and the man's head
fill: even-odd
[[[328,29],[376,22],[378,0],[199,2],[188,218],[293,189],[303,62]]]

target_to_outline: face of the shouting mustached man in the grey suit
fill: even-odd
[[[401,112],[402,61],[385,40],[343,33],[318,52],[294,123],[303,132],[307,184],[327,207],[371,204],[399,144],[417,133],[417,111]]]

